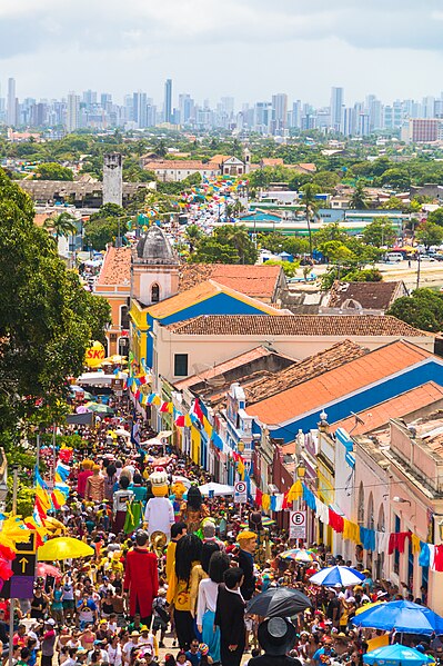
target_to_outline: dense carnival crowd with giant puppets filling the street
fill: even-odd
[[[143,450],[130,437],[127,398],[111,404],[112,418],[68,427],[82,447],[70,461],[69,499],[57,511],[59,534],[82,539],[94,555],[52,563],[59,571],[43,570],[33,597],[14,608],[0,602],[3,664],[266,666],[276,659],[361,666],[381,633],[361,630],[352,618],[365,604],[407,598],[407,587],[376,580],[361,564],[360,585],[312,585],[323,566],[354,563],[322,544],[311,545],[312,561],[283,558],[294,545],[284,530],[264,528],[250,505],[244,526],[232,497],[203,497],[199,487],[210,476],[170,445]],[[127,434],[115,436],[115,429]],[[142,421],[139,434],[141,440],[154,435]],[[265,622],[248,613],[255,595],[279,586],[300,589],[311,606]],[[425,605],[422,593],[414,600]],[[443,654],[439,637],[410,637],[410,644],[435,658]]]

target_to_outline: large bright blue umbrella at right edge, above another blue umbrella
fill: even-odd
[[[403,632],[406,634],[443,634],[443,617],[413,602],[389,602],[373,606],[352,618],[359,627]]]

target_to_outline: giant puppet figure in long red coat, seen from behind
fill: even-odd
[[[142,624],[151,626],[152,602],[159,592],[157,556],[148,550],[149,535],[139,529],[135,547],[128,551],[123,589],[129,595],[131,618],[139,613]]]

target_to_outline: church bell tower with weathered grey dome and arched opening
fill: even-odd
[[[153,225],[139,240],[131,264],[131,298],[151,306],[179,291],[179,258],[163,230]]]

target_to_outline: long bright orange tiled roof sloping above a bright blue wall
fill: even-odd
[[[405,370],[433,355],[404,340],[391,342],[294,388],[246,407],[248,414],[266,425],[324,408],[330,402]]]

